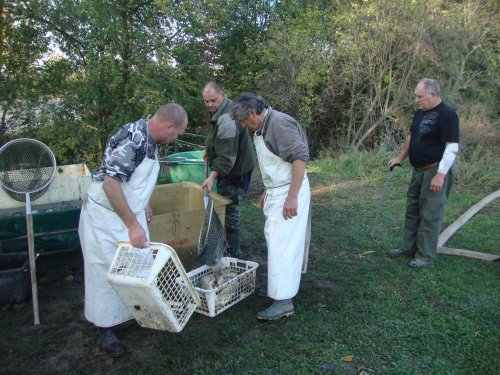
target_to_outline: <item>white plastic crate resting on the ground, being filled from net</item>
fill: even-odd
[[[229,272],[234,277],[214,289],[206,289],[202,285],[207,277],[215,278],[211,267],[196,268],[187,274],[201,299],[196,312],[210,317],[217,316],[255,290],[255,277],[259,266],[257,263],[229,257],[222,258],[221,262],[224,272]]]

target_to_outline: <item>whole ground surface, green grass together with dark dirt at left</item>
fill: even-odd
[[[270,301],[253,295],[216,318],[195,314],[179,334],[128,323],[117,330],[128,355],[109,359],[95,348],[97,335],[82,317],[82,284],[67,282],[68,272],[81,275],[79,258],[69,260],[74,265],[61,258],[57,271],[48,268],[55,260],[40,265],[55,280],[41,290],[41,327],[30,326],[30,304],[0,312],[0,373],[500,373],[500,263],[440,255],[414,270],[408,259],[388,258],[401,239],[411,171],[408,165],[394,170],[382,197],[387,158],[357,155],[310,165],[312,244],[294,317],[257,321],[255,313]],[[459,175],[443,229],[490,192]],[[261,264],[257,283],[264,285],[258,197],[251,193],[242,205],[243,248]],[[500,202],[494,202],[447,245],[499,254],[499,218]],[[53,299],[59,314],[48,320]]]

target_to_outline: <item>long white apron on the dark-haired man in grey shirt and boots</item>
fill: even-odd
[[[267,293],[272,299],[284,300],[299,291],[311,201],[309,180],[305,175],[298,196],[298,215],[285,220],[283,205],[292,180],[292,164],[269,151],[262,135],[254,135],[254,141],[266,187]]]

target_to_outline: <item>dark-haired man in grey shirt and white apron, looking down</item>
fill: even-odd
[[[260,204],[266,217],[267,295],[274,302],[257,318],[276,320],[292,316],[292,298],[299,290],[309,244],[307,140],[295,119],[273,110],[260,96],[251,93],[242,93],[233,101],[231,116],[255,131],[255,149],[266,187]]]

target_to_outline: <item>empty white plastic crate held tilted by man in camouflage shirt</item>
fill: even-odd
[[[118,242],[108,281],[147,328],[180,332],[201,303],[174,249],[163,243],[138,249]]]

